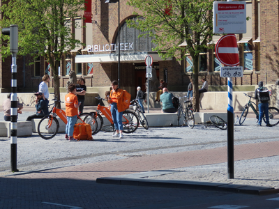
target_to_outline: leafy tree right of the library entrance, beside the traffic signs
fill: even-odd
[[[128,5],[138,8],[144,20],[128,20],[128,25],[153,36],[153,42],[163,59],[186,58],[186,53],[193,59],[193,104],[199,111],[198,60],[199,53],[206,48],[213,36],[211,0],[128,0]],[[139,15],[134,13],[134,15]],[[186,42],[186,47],[179,47]]]

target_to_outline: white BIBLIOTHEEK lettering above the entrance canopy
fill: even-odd
[[[111,52],[117,51],[119,49],[119,45],[116,44],[106,44],[106,45],[87,45],[87,52]],[[133,42],[125,42],[120,43],[120,50],[133,50],[134,43]]]

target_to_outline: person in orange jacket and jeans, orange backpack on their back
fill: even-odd
[[[116,132],[112,137],[123,138],[123,124],[122,115],[125,108],[123,107],[123,90],[118,88],[118,82],[112,82],[112,91],[110,91],[110,97],[108,102],[110,103],[110,111],[112,113],[112,120],[114,122],[114,128]]]

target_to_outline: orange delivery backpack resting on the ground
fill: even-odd
[[[93,140],[92,139],[92,130],[89,124],[87,123],[77,123],[74,126],[73,137],[80,140]]]

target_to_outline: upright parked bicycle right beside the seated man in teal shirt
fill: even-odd
[[[187,97],[186,97],[187,98]],[[180,118],[183,116],[183,125],[187,123],[190,128],[195,126],[195,116],[193,112],[193,105],[190,104],[190,100],[184,101],[185,110],[183,105],[180,102],[181,98],[179,98],[179,108],[177,109],[177,126],[180,125]],[[182,125],[182,126],[183,126]]]

